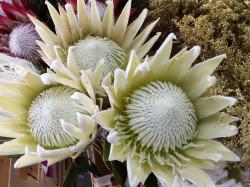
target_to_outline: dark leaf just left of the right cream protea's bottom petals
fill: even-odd
[[[112,161],[111,170],[114,174],[116,182],[121,185],[124,185],[127,179],[126,166],[122,162]]]

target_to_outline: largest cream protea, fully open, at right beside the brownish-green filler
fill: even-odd
[[[215,83],[211,74],[225,55],[191,67],[200,48],[183,49],[170,58],[173,38],[170,34],[143,63],[132,52],[126,70],[115,70],[114,85],[104,86],[112,107],[94,115],[109,131],[109,159],[127,161],[131,186],[145,182],[151,172],[165,186],[183,179],[213,186],[202,169],[214,169],[218,161],[239,160],[211,140],[237,133],[229,125],[237,118],[220,112],[236,100],[202,96]]]

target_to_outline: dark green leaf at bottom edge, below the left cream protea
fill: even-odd
[[[64,178],[62,187],[71,187],[77,179],[77,175],[80,170],[75,166],[74,163],[71,164],[67,171],[66,177]]]

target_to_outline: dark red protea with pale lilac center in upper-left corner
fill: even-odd
[[[28,15],[35,16],[28,0],[0,2],[0,52],[11,56],[36,60],[39,49],[36,40],[40,37],[30,22]]]

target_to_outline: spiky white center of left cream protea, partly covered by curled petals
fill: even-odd
[[[60,119],[76,125],[76,112],[81,111],[70,98],[76,90],[56,86],[41,92],[32,102],[28,112],[30,132],[38,143],[46,148],[73,145],[77,139],[67,134]]]

